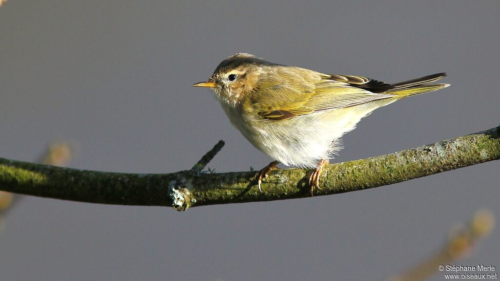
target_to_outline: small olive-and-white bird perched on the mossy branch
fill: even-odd
[[[262,179],[286,166],[312,169],[311,195],[323,167],[341,146],[341,137],[376,108],[401,98],[449,86],[432,83],[436,73],[398,83],[272,63],[249,53],[222,60],[208,80],[192,86],[213,90],[232,125],[274,160],[255,175]]]

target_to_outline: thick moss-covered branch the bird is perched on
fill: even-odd
[[[362,190],[500,159],[500,126],[391,154],[326,165],[315,195]],[[200,163],[204,163],[200,160]],[[197,170],[197,169],[194,169]],[[273,171],[259,192],[254,171],[115,173],[0,158],[0,189],[92,203],[191,206],[310,196],[307,170]]]

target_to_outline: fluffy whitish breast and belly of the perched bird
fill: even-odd
[[[244,116],[221,103],[231,123],[253,146],[290,166],[315,168],[322,159],[333,158],[342,147],[340,137],[374,109],[392,101],[375,101],[348,108],[318,111],[285,120]]]

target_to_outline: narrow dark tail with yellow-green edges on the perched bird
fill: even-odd
[[[414,94],[435,91],[438,89],[445,88],[449,86],[449,84],[427,84],[427,83],[436,81],[444,76],[446,76],[446,73],[436,73],[421,78],[402,81],[393,84],[394,87],[384,93],[395,94],[396,97],[406,97]]]

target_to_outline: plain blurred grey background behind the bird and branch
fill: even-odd
[[[73,139],[81,152],[71,167],[159,173],[189,168],[224,139],[210,168],[260,168],[272,159],[207,89],[190,86],[239,51],[387,82],[448,72],[451,87],[363,119],[338,161],[488,129],[500,122],[499,13],[498,1],[8,0],[0,155],[34,160],[49,140]],[[28,197],[4,221],[0,278],[380,280],[430,254],[476,209],[499,215],[499,167],[186,212]],[[499,233],[457,264],[500,267]]]

